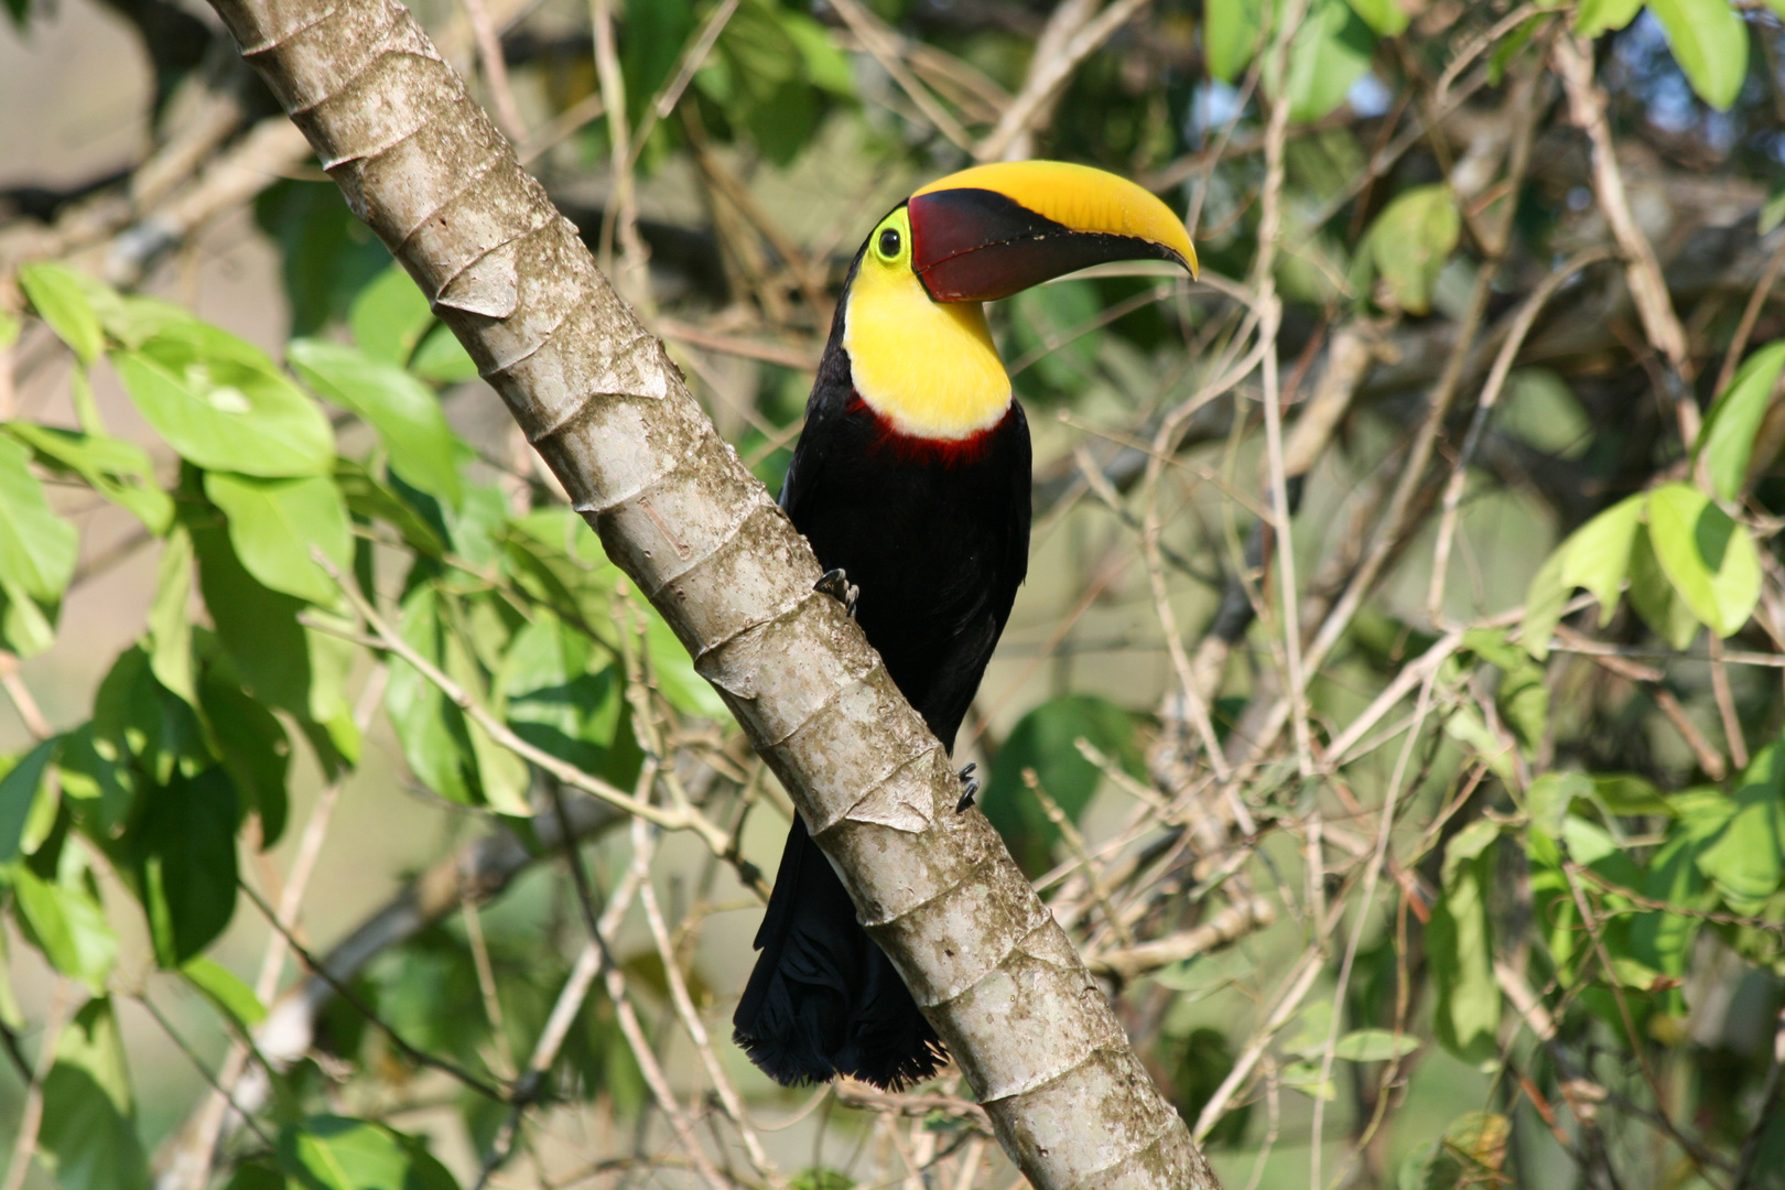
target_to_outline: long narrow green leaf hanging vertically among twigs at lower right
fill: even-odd
[[[1499,987],[1494,983],[1494,933],[1487,888],[1494,878],[1490,846],[1496,822],[1471,822],[1444,849],[1444,887],[1432,906],[1426,949],[1432,956],[1433,1035],[1464,1062],[1496,1053]]]

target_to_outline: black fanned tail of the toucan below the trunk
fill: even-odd
[[[794,815],[757,931],[734,1040],[784,1087],[837,1074],[898,1090],[946,1056],[903,979],[855,921],[850,894]]]

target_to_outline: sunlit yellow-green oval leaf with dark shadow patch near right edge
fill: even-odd
[[[1719,637],[1760,601],[1760,555],[1748,530],[1687,483],[1649,492],[1649,542],[1680,599]]]

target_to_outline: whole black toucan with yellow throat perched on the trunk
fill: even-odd
[[[843,282],[780,505],[944,748],[1028,571],[1030,442],[982,302],[1107,260],[1196,273],[1183,221],[1087,166],[975,166],[869,232]],[[960,808],[971,803],[971,765]],[[794,1087],[896,1090],[946,1051],[794,815],[732,1019]]]

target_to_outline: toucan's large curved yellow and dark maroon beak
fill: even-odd
[[[935,302],[994,302],[1107,260],[1196,275],[1183,221],[1146,189],[1089,166],[975,166],[910,196],[910,268]]]

